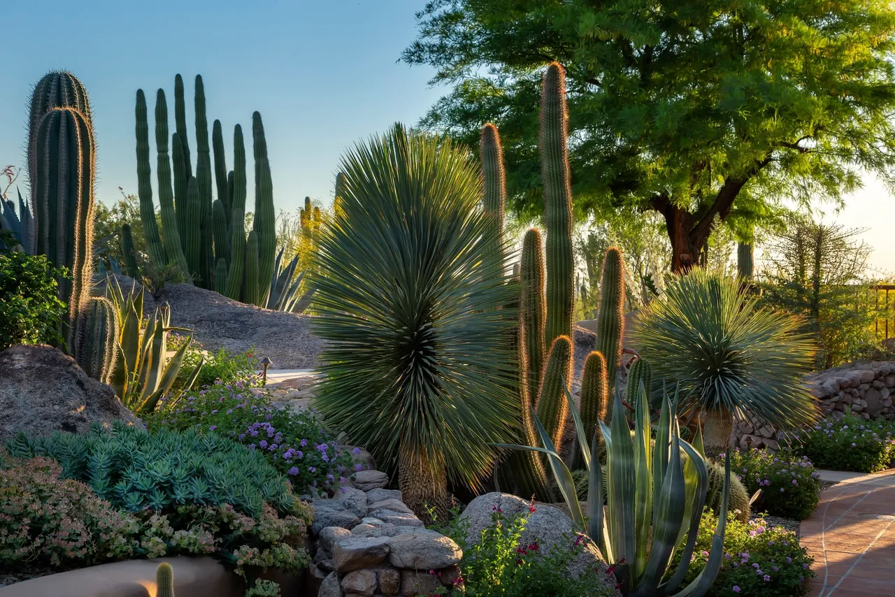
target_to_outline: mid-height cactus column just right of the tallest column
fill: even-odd
[[[622,337],[625,334],[625,260],[616,247],[603,257],[600,282],[600,311],[597,313],[597,350],[606,357],[609,396],[616,384],[621,363]]]

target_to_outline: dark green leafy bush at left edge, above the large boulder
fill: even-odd
[[[65,303],[56,279],[67,274],[44,255],[0,251],[0,350],[13,344],[56,344]]]

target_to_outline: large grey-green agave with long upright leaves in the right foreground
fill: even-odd
[[[631,395],[634,393],[628,391],[628,403],[632,402]],[[575,402],[568,393],[566,397],[578,437],[586,437]],[[589,476],[586,520],[575,492],[573,475],[536,415],[533,414],[534,422],[543,448],[502,447],[535,450],[547,455],[554,479],[573,520],[579,528],[586,529],[603,559],[616,570],[623,594],[628,597],[699,597],[714,582],[723,556],[729,508],[729,456],[726,456],[724,465],[724,489],[719,522],[712,538],[712,553],[699,576],[681,588],[695,548],[709,485],[702,434],[697,433],[693,444],[680,438],[676,416],[678,391],[673,400],[663,391],[653,448],[650,441],[649,398],[643,384],[636,390],[633,404],[633,434],[628,427],[621,397],[616,392],[611,427],[600,422],[601,433],[593,434],[591,447],[579,443]],[[600,435],[606,450],[605,471],[599,461],[591,457],[597,454]],[[669,562],[682,542],[680,563],[671,571],[668,569]]]

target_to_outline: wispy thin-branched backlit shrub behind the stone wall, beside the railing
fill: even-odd
[[[796,313],[818,345],[817,369],[829,369],[878,349],[874,322],[886,319],[885,301],[865,279],[870,247],[861,229],[791,216],[771,240],[761,303]]]

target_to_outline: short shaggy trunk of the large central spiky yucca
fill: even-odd
[[[447,469],[444,462],[433,462],[425,449],[401,441],[398,455],[398,484],[404,503],[426,525],[432,516],[442,522],[450,513],[450,496],[447,494]]]

